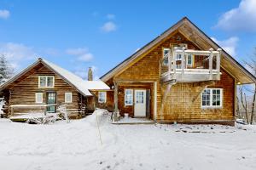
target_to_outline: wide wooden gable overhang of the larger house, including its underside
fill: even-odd
[[[190,29],[189,31],[186,29]],[[175,25],[164,31],[160,36],[155,37],[154,40],[148,42],[143,48],[137,50],[136,53],[132,54],[130,57],[116,65],[112,70],[108,71],[105,75],[101,77],[103,82],[107,82],[114,75],[119,74],[121,71],[127,69],[127,65],[131,65],[132,62],[137,60],[140,56],[145,54],[148,50],[156,47],[160,42],[162,42],[166,37],[168,37],[174,31],[180,31],[186,37],[192,37],[191,35],[196,35],[194,37],[194,41],[191,42],[199,43],[199,39],[203,41],[206,45],[204,45],[204,50],[209,48],[221,48],[216,42],[214,42],[210,37],[208,37],[203,31],[201,31],[194,23],[192,23],[187,17],[184,17],[182,20],[179,20]],[[201,45],[196,44],[198,47],[202,48]],[[208,47],[208,48],[206,48]],[[228,54],[223,48],[222,58],[221,58],[221,67],[224,68],[225,71],[228,71],[231,76],[235,77],[238,82],[242,84],[253,83],[256,82],[256,78],[245,69],[239,62],[236,61],[230,54]]]

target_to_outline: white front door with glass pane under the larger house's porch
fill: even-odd
[[[146,116],[146,90],[134,90],[134,116]]]

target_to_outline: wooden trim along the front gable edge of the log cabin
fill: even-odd
[[[44,59],[38,58],[37,61],[35,61],[34,63],[32,63],[32,65],[29,65],[28,67],[26,67],[23,71],[20,71],[20,73],[16,74],[14,77],[11,77],[7,82],[4,82],[1,86],[0,86],[0,91],[2,91],[4,88],[6,88],[10,83],[15,82],[15,80],[17,80],[19,77],[21,77],[22,75],[24,75],[27,71],[29,71],[30,69],[32,69],[32,67],[34,67],[35,65],[38,65],[39,63],[42,63],[43,65],[45,65],[50,71],[55,72],[59,77],[61,77],[62,79],[64,79],[69,85],[73,86],[73,88],[75,88],[80,94],[83,94],[84,96],[91,96],[91,95],[86,95],[83,92],[81,92],[79,90],[79,88],[77,88],[72,82],[68,81],[67,78],[62,77],[61,74],[58,71],[55,71],[55,69],[53,69],[50,65],[48,65],[47,63],[44,62]],[[90,91],[88,89],[88,91]]]

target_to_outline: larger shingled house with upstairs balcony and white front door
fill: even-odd
[[[256,78],[188,18],[101,77],[114,119],[234,124],[236,85]]]

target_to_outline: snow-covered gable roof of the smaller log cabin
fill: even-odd
[[[9,81],[4,82],[0,86],[0,90],[3,90],[4,88],[8,87],[8,85],[12,82],[15,82],[19,77],[22,75],[25,75],[26,72],[30,71],[34,66],[42,63],[45,65],[50,71],[55,72],[59,77],[61,77],[65,82],[73,86],[73,88],[76,88],[80,94],[83,94],[84,96],[91,96],[90,89],[102,89],[102,90],[108,90],[109,87],[107,84],[105,84],[102,81],[85,81],[81,77],[76,76],[70,71],[67,71],[63,68],[61,68],[58,65],[55,65],[45,59],[39,58],[36,62],[34,62],[32,65],[29,65],[26,69],[23,71],[20,71],[15,77],[12,77],[9,79]]]

